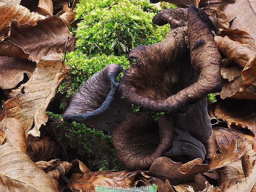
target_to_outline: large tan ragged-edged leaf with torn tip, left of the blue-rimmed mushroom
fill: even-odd
[[[8,117],[18,119],[26,134],[40,135],[39,128],[48,119],[45,110],[68,69],[69,66],[62,63],[61,55],[43,57],[28,82],[12,92],[17,96],[5,102]],[[28,133],[33,122],[35,127]]]

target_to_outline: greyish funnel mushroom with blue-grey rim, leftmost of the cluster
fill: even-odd
[[[110,64],[92,76],[72,97],[64,121],[79,121],[87,126],[111,131],[132,111],[121,99],[116,77],[123,67]]]

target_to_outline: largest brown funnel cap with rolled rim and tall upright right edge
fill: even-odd
[[[179,112],[211,92],[220,92],[221,57],[209,23],[196,7],[188,8],[187,28],[175,28],[164,41],[135,47],[130,52],[130,62],[136,62],[120,82],[121,93],[130,103],[154,111]],[[198,75],[196,82],[186,85],[183,82],[189,80],[186,74],[191,73],[191,64],[185,36]]]

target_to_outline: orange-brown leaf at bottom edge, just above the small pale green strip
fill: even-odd
[[[86,173],[73,173],[67,187],[72,191],[95,190],[97,186],[110,188],[130,188],[135,174],[128,171],[97,171]]]

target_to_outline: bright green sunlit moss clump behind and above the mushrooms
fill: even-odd
[[[168,4],[168,8],[175,5]],[[76,19],[84,19],[77,29],[71,28],[77,38],[76,50],[66,55],[70,70],[58,89],[66,97],[62,109],[92,75],[112,63],[127,69],[133,47],[158,43],[170,31],[169,25],[152,23],[159,10],[148,0],[81,0],[76,12]]]

